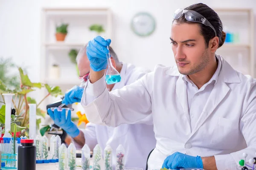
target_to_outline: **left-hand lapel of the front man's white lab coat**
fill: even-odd
[[[175,90],[176,90],[177,98],[178,98],[178,100],[183,108],[184,114],[187,118],[187,121],[190,124],[187,87],[186,87],[186,83],[182,79],[182,76],[180,76],[177,79]],[[190,129],[190,132],[191,132],[191,129]]]

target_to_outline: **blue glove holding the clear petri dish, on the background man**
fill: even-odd
[[[55,125],[58,125],[63,130],[67,132],[69,136],[72,138],[79,135],[79,129],[74,124],[74,122],[71,121],[71,111],[69,110],[67,112],[67,119],[66,119],[66,110],[63,109],[62,111],[58,111],[57,109],[54,109],[54,113],[49,108],[48,110],[49,116],[54,121]]]

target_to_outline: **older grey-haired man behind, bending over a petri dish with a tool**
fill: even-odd
[[[109,47],[109,50],[113,67],[116,68],[121,75],[121,82],[106,85],[108,91],[113,91],[115,89],[120,89],[125,85],[129,85],[149,72],[149,70],[144,68],[119,62],[113,49]],[[84,79],[84,82],[87,82],[90,71],[90,62],[86,56],[86,46],[81,48],[76,60],[80,76]],[[83,91],[84,88],[75,86],[65,94],[63,103],[72,104],[74,102],[80,102]],[[76,148],[81,149],[86,143],[90,149],[93,150],[96,144],[99,144],[103,151],[106,145],[109,144],[113,149],[113,170],[116,165],[116,148],[119,144],[122,144],[125,149],[125,167],[140,167],[143,169],[146,167],[148,154],[156,145],[151,119],[144,120],[144,122],[149,125],[124,124],[119,125],[118,127],[108,127],[88,123],[85,129],[79,130],[70,119],[66,120],[65,112],[63,113],[63,116],[61,113],[58,113],[58,111],[55,111],[54,114],[50,110],[48,112],[55,124],[62,127],[73,138]],[[56,116],[56,118],[54,116]],[[63,118],[63,122],[61,122],[61,118]]]

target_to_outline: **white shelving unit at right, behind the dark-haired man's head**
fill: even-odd
[[[225,42],[219,54],[237,71],[255,78],[254,16],[249,8],[216,8],[226,33],[238,35],[236,42]]]

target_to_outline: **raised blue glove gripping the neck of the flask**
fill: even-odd
[[[101,71],[107,68],[107,54],[109,53],[107,45],[110,45],[110,43],[110,39],[104,40],[100,36],[88,42],[86,55],[90,61],[90,68],[93,71]]]

